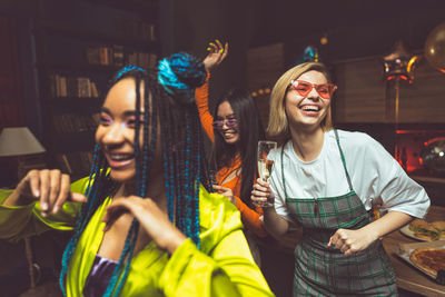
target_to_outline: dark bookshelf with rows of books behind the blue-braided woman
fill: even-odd
[[[40,0],[34,20],[48,164],[73,179],[89,172],[108,81],[126,65],[154,68],[159,57],[157,1],[119,3]]]

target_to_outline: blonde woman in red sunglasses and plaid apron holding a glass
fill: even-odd
[[[268,156],[275,169],[269,184],[257,180],[251,199],[275,199],[264,208],[270,234],[303,226],[294,296],[395,296],[379,238],[424,217],[429,198],[376,140],[333,129],[336,88],[322,63],[296,66],[278,79],[267,128],[279,143]],[[376,201],[388,212],[372,220]]]

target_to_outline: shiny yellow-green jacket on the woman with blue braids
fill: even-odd
[[[71,185],[83,192],[87,179]],[[20,240],[48,229],[71,230],[80,205],[67,202],[57,215],[42,217],[39,202],[7,207],[11,191],[0,190],[0,239]],[[199,191],[200,242],[187,239],[169,256],[154,241],[131,260],[120,296],[274,296],[254,264],[243,235],[239,211],[225,197]],[[85,281],[103,237],[101,221],[108,197],[83,231],[67,275],[68,296],[82,296]],[[123,239],[122,239],[123,240]]]

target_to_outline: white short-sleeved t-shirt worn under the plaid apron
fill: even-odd
[[[377,199],[389,211],[397,210],[418,218],[426,215],[429,198],[425,189],[406,175],[379,142],[363,132],[337,131],[353,189],[366,210],[372,208],[372,200]],[[278,148],[268,156],[275,161],[269,181],[277,214],[291,220],[283,188],[280,155],[281,148]],[[349,192],[334,130],[325,132],[322,152],[309,162],[301,161],[291,141],[287,141],[283,164],[289,198],[334,197]]]

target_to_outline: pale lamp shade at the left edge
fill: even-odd
[[[0,135],[0,157],[44,152],[44,148],[28,127],[4,128]]]

